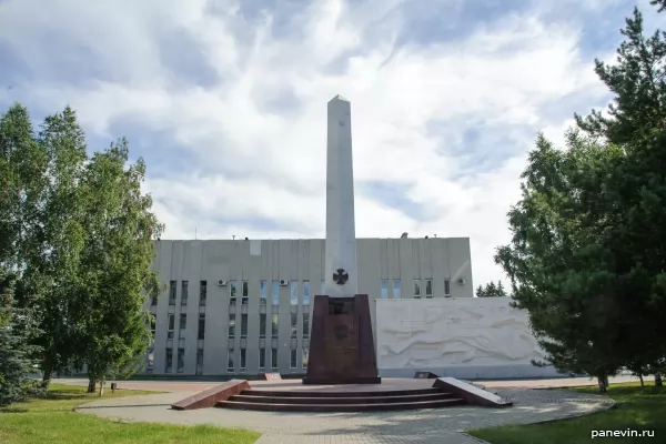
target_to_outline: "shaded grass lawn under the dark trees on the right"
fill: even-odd
[[[652,383],[648,383],[652,384]],[[579,393],[598,393],[596,386],[567,389]],[[608,396],[617,403],[612,408],[571,420],[542,424],[511,425],[482,428],[468,434],[492,444],[578,444],[592,442],[666,443],[666,387],[639,383],[612,385]],[[592,440],[592,431],[650,431],[654,437],[599,437]]]

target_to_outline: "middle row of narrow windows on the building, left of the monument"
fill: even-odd
[[[167,339],[172,340],[175,336],[175,313],[168,314],[168,327],[167,327]],[[241,322],[240,322],[240,332],[236,331],[236,315],[232,313],[229,315],[229,324],[228,324],[228,333],[229,339],[235,339],[236,333],[240,334],[240,337],[248,337],[248,314],[241,313]],[[259,339],[266,339],[268,331],[268,314],[261,313],[259,314]],[[280,331],[280,315],[279,313],[272,313],[271,316],[271,337],[278,339],[278,334]],[[301,331],[302,337],[310,337],[310,313],[301,313]],[[299,314],[290,313],[290,337],[296,339],[299,333]],[[185,331],[188,329],[188,313],[180,313],[180,322],[179,322],[179,339],[185,337]],[[154,324],[151,325],[151,330],[154,339]],[[199,324],[196,330],[196,339],[203,340],[205,339],[205,314],[199,314]]]

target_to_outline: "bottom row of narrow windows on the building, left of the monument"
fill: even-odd
[[[302,347],[301,367],[303,370],[307,369],[309,354],[310,354],[310,350],[307,347]],[[152,350],[149,351],[148,367],[151,370],[153,367],[153,356],[154,356],[153,351]],[[173,350],[172,349],[165,350],[164,360],[165,360],[164,373],[173,373]],[[240,364],[239,370],[248,369],[248,349],[240,350],[240,363],[239,364]],[[268,367],[266,367],[266,350],[259,349],[259,370],[265,370],[265,369],[275,370],[275,369],[278,369],[278,364],[279,364],[278,349],[271,349],[270,362],[269,362]],[[291,349],[290,350],[290,367],[297,369],[297,364],[299,364],[297,349]],[[175,372],[183,373],[184,367],[185,367],[185,349],[178,349]],[[226,370],[228,371],[235,370],[235,350],[234,349],[229,349],[226,351]],[[196,350],[195,374],[198,374],[198,375],[203,374],[203,349]]]

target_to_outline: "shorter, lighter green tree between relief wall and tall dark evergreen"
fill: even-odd
[[[620,311],[619,282],[607,270],[615,258],[599,246],[613,221],[599,210],[608,164],[620,153],[575,131],[565,151],[539,135],[522,175],[523,198],[509,212],[512,242],[495,256],[546,352],[546,362],[535,364],[588,373],[605,386],[622,366],[614,347]]]

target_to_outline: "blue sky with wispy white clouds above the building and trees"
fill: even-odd
[[[537,131],[604,107],[628,0],[0,0],[0,110],[70,104],[148,163],[167,239],[323,238],[326,102],[352,102],[356,235],[470,236],[474,283]],[[639,0],[648,23],[654,8]]]

